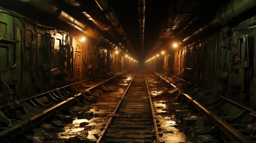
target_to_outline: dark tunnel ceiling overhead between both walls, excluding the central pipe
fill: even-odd
[[[23,0],[26,1],[26,0]],[[30,1],[30,0],[27,0]],[[57,7],[97,29],[112,47],[129,51],[144,62],[149,56],[180,42],[204,21],[211,19],[218,7],[228,0],[146,0],[144,49],[141,51],[138,0],[54,0]],[[6,7],[47,26],[62,27],[65,22],[19,0],[0,1]],[[36,12],[35,12],[36,11]],[[72,29],[67,29],[72,33]],[[108,43],[109,44],[109,43]],[[143,56],[142,56],[143,55]]]

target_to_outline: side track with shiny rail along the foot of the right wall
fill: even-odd
[[[189,102],[197,110],[206,114],[215,125],[207,132],[193,133],[195,136],[219,134],[220,132],[218,130],[220,130],[232,141],[241,143],[256,142],[256,114],[254,110],[231,101],[223,96],[216,97],[213,101],[208,103],[200,103],[200,101],[197,100],[198,98],[196,93],[191,93],[191,91],[195,91],[198,88],[196,85],[168,73],[154,73],[170,84],[173,88],[182,89],[181,95],[183,95],[184,100]],[[206,96],[212,94],[211,91],[204,93]]]

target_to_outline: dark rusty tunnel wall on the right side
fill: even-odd
[[[168,51],[163,71],[256,106],[256,16]],[[154,61],[152,61],[153,63]],[[162,70],[155,65],[151,67]],[[213,89],[216,88],[216,89]]]

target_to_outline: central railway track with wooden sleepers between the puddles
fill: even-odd
[[[143,71],[135,74],[109,116],[97,143],[160,143],[153,104]]]

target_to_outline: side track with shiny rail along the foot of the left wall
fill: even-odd
[[[15,108],[2,106],[1,110],[5,110],[5,113],[8,113],[8,118],[11,119],[6,119],[6,122],[10,122],[11,126],[10,124],[9,127],[3,127],[1,125],[1,142],[8,142],[11,139],[15,139],[16,136],[31,130],[31,128],[38,123],[42,123],[57,111],[64,109],[77,100],[84,99],[85,101],[90,101],[94,99],[95,97],[93,97],[90,92],[100,88],[103,83],[121,74],[123,73],[111,72],[101,75],[99,76],[101,78],[99,83],[94,83],[91,79],[86,79],[61,88],[56,88],[55,90],[22,99],[18,101],[19,104],[16,105]],[[19,114],[19,116],[16,116],[15,112],[22,113],[23,115],[21,116]]]

